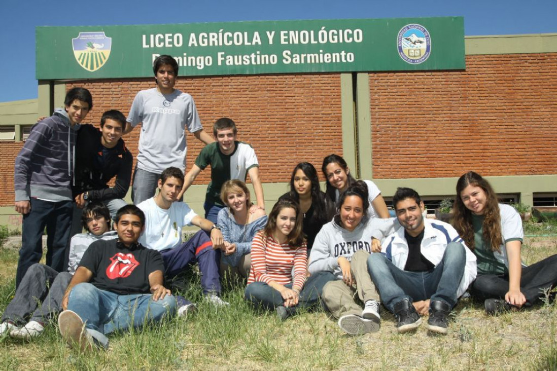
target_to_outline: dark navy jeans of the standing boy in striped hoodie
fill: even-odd
[[[41,260],[42,235],[47,233],[46,265],[61,272],[67,268],[72,201],[50,202],[31,199],[31,211],[23,215],[21,249],[17,263],[16,289],[27,269]]]

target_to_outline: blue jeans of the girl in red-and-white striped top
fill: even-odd
[[[298,305],[304,308],[310,308],[319,303],[319,298],[323,292],[323,286],[329,281],[335,280],[335,276],[330,272],[319,272],[312,274],[306,281],[304,288],[300,292]],[[286,285],[291,289],[292,284]],[[282,295],[271,286],[264,282],[253,282],[246,287],[244,297],[250,301],[256,308],[274,309],[279,305],[284,305]]]

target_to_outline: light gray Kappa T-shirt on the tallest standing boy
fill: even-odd
[[[160,174],[167,167],[185,170],[185,128],[202,130],[192,96],[179,90],[163,95],[156,88],[135,96],[127,120],[131,126],[141,124],[138,169]]]

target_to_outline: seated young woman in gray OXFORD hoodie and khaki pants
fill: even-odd
[[[369,276],[367,259],[372,251],[380,251],[380,239],[399,224],[394,219],[368,216],[368,187],[363,181],[349,186],[340,195],[338,205],[339,215],[325,224],[315,238],[309,271],[312,275],[321,271],[334,274],[335,280],[323,288],[323,302],[339,319],[344,332],[377,332],[379,294]]]

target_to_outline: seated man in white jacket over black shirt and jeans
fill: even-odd
[[[423,219],[418,192],[397,189],[393,205],[401,227],[369,256],[369,273],[399,333],[418,328],[429,311],[427,329],[446,334],[451,309],[476,278],[476,257],[450,224]]]

